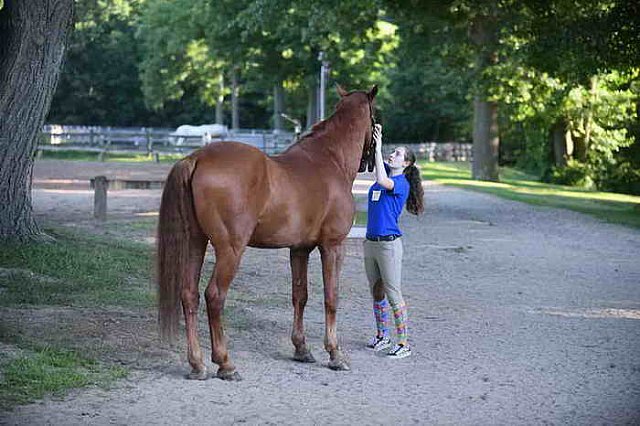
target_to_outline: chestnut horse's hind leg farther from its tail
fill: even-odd
[[[222,314],[229,285],[238,270],[243,251],[244,247],[235,249],[229,245],[224,248],[216,246],[216,266],[205,292],[211,332],[211,359],[219,366],[217,377],[223,380],[241,380],[229,358]]]

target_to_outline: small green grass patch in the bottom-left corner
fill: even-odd
[[[104,366],[74,351],[39,348],[2,365],[0,408],[61,395],[72,388],[108,385],[127,374],[122,367]]]

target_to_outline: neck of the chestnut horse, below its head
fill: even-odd
[[[334,162],[353,181],[360,167],[367,125],[364,117],[349,118],[346,111],[336,111],[304,149],[316,160]]]

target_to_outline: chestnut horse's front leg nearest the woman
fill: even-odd
[[[329,352],[329,368],[346,371],[350,369],[349,363],[338,346],[338,332],[336,330],[338,279],[344,258],[344,248],[342,244],[324,245],[320,247],[320,257],[322,259],[322,278],[324,280],[324,347]]]

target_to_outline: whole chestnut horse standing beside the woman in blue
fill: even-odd
[[[325,337],[329,367],[348,370],[338,346],[336,308],[342,242],[355,214],[351,187],[373,164],[373,102],[377,93],[347,93],[338,86],[334,114],[285,152],[267,156],[237,143],[207,145],[176,163],[167,178],[158,225],[159,319],[163,336],[174,337],[180,302],[185,317],[191,379],[205,379],[197,333],[198,282],[207,247],[215,267],[205,291],[212,360],[217,376],[239,380],[222,324],[229,285],[247,246],[290,248],[291,340],[294,359],[315,362],[305,343],[307,265],[318,247],[324,281]]]

